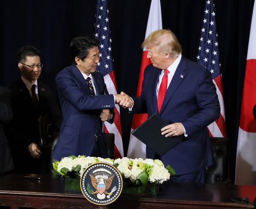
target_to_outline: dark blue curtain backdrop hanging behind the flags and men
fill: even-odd
[[[254,0],[214,0],[226,124],[231,138],[231,178],[234,175],[237,127],[241,108],[250,22]],[[141,61],[150,0],[108,0],[114,69],[118,92],[134,96]],[[19,76],[17,51],[26,44],[41,50],[40,80],[54,89],[55,76],[72,63],[69,44],[78,34],[93,34],[96,0],[1,1],[0,85]],[[205,0],[162,0],[163,28],[178,37],[183,55],[196,61]],[[129,143],[132,116],[121,111],[124,151]]]

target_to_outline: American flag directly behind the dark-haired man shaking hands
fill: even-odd
[[[104,76],[109,94],[117,94],[115,72],[113,70],[113,58],[111,54],[111,38],[109,28],[107,0],[98,0],[95,21],[95,38],[100,40],[100,62],[97,70]],[[104,131],[115,134],[114,158],[123,157],[122,130],[120,122],[120,108],[116,105],[113,124],[105,123]]]

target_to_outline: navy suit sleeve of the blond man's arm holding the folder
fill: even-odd
[[[181,121],[188,136],[213,123],[220,114],[219,100],[209,71],[202,71],[197,83],[196,103],[198,112]]]

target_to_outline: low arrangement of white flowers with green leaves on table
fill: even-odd
[[[151,183],[160,183],[168,181],[171,175],[175,174],[173,168],[164,166],[160,160],[152,159],[103,159],[91,156],[78,155],[62,158],[53,163],[53,168],[61,176],[77,178],[82,176],[84,170],[93,163],[106,162],[117,167],[124,179],[130,179],[136,185]]]

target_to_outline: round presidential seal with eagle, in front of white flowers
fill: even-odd
[[[107,205],[119,197],[123,180],[118,169],[108,163],[94,163],[88,166],[80,182],[85,198],[97,205]]]

